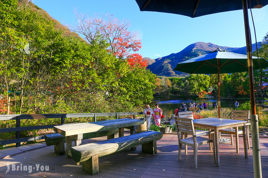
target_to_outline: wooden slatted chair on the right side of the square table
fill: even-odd
[[[246,128],[247,128],[247,149],[250,149],[249,146],[249,125],[250,125],[250,117],[249,117],[250,111],[244,111],[244,110],[235,110],[232,109],[231,111],[231,119],[236,119],[236,120],[246,120]],[[219,132],[223,132],[226,134],[230,134],[231,137],[231,144],[233,145],[233,135],[236,135],[236,152],[239,153],[239,139],[238,135],[243,134],[242,130],[238,130],[238,127],[235,128],[225,128],[222,130],[219,130]]]

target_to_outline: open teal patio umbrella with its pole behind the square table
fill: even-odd
[[[253,70],[259,69],[258,58],[252,56]],[[261,68],[267,68],[268,62],[264,58],[259,58]],[[220,118],[220,81],[219,74],[245,72],[248,71],[247,55],[232,53],[219,48],[208,54],[191,58],[177,64],[176,71],[189,74],[218,74],[218,100],[219,100],[219,118]]]

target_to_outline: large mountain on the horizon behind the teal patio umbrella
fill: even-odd
[[[257,44],[258,48],[260,48],[259,45],[260,42],[258,42]],[[149,58],[148,60],[148,58],[146,58],[148,60],[147,69],[150,69],[152,73],[159,76],[166,76],[166,77],[187,76],[189,74],[179,71],[173,71],[177,63],[209,53],[210,51],[216,50],[217,47],[219,47],[221,50],[227,50],[233,53],[247,54],[246,47],[227,47],[227,46],[215,45],[213,43],[196,42],[194,44],[187,46],[179,53],[172,53],[170,55],[160,57],[157,59]],[[256,50],[256,44],[252,44],[252,51],[255,50]]]

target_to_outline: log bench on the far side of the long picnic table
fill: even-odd
[[[91,139],[102,136],[107,136],[107,139],[113,139],[118,137],[115,136],[116,134],[118,134],[118,129],[111,129],[83,134],[82,139]],[[45,136],[45,141],[47,146],[54,145],[55,153],[58,155],[65,154],[64,143],[66,142],[66,136],[63,136],[61,134],[49,134]],[[72,138],[72,141],[76,140]]]

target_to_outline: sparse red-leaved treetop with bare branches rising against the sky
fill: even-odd
[[[76,26],[69,25],[71,31],[82,34],[89,43],[102,36],[109,44],[107,50],[113,55],[118,58],[128,58],[127,61],[132,67],[147,66],[147,61],[141,60],[142,56],[135,53],[141,49],[141,40],[138,38],[137,32],[129,31],[129,21],[119,20],[110,14],[90,17],[74,13],[78,24]]]

